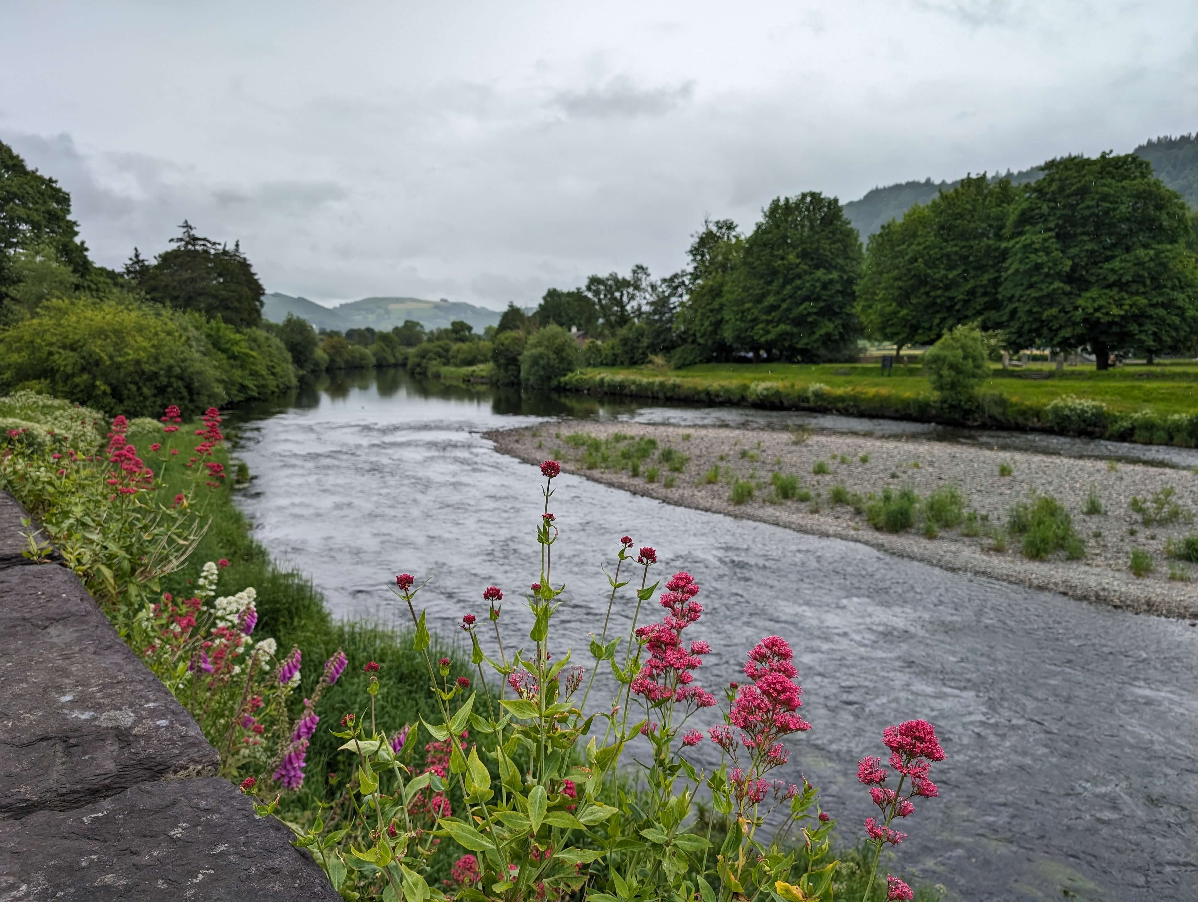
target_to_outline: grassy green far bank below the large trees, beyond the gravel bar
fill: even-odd
[[[1030,377],[1036,376],[1036,377]],[[565,391],[696,404],[812,410],[861,417],[952,422],[916,365],[883,376],[875,364],[702,364],[680,370],[593,367],[567,376]],[[996,365],[966,422],[1093,435],[1117,441],[1198,446],[1198,367]],[[1081,404],[1077,402],[1078,399]],[[1055,404],[1054,404],[1055,402]]]

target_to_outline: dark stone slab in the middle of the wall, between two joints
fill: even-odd
[[[0,819],[217,773],[216,749],[66,568],[0,570]]]

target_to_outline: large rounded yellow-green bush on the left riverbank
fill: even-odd
[[[109,414],[157,416],[163,398],[194,413],[228,398],[211,353],[186,314],[129,298],[58,298],[0,334],[0,385]]]

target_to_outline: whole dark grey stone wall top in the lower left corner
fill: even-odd
[[[0,902],[338,900],[0,492]]]

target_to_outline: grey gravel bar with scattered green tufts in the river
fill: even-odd
[[[1198,620],[1198,583],[1184,581],[1198,577],[1198,567],[1167,556],[1170,544],[1198,532],[1192,522],[1198,476],[1192,472],[915,440],[754,429],[562,422],[485,437],[506,454],[530,462],[555,458],[565,472],[671,504],[860,541],[948,570],[1138,613]],[[641,452],[648,447],[643,440],[655,442],[640,459],[631,450],[639,440]],[[1000,476],[1005,467],[1010,476]],[[779,497],[774,473],[795,478],[795,497]],[[740,503],[732,497],[738,483]],[[871,494],[909,488],[927,498],[946,486],[960,489],[967,519],[936,529],[937,538],[926,538],[918,520],[898,533],[876,529],[867,520]],[[1168,496],[1169,489],[1161,513],[1164,520],[1175,517],[1173,522],[1145,523],[1131,509],[1139,498],[1152,519],[1156,507],[1150,500]],[[1067,559],[1065,551],[1057,551],[1047,559],[1029,559],[1022,553],[1021,535],[1009,533],[1009,517],[1012,507],[1037,495],[1064,506],[1084,541],[1084,557]],[[1095,509],[1091,495],[1102,514],[1083,513]],[[1151,571],[1130,571],[1133,551],[1149,556]]]

